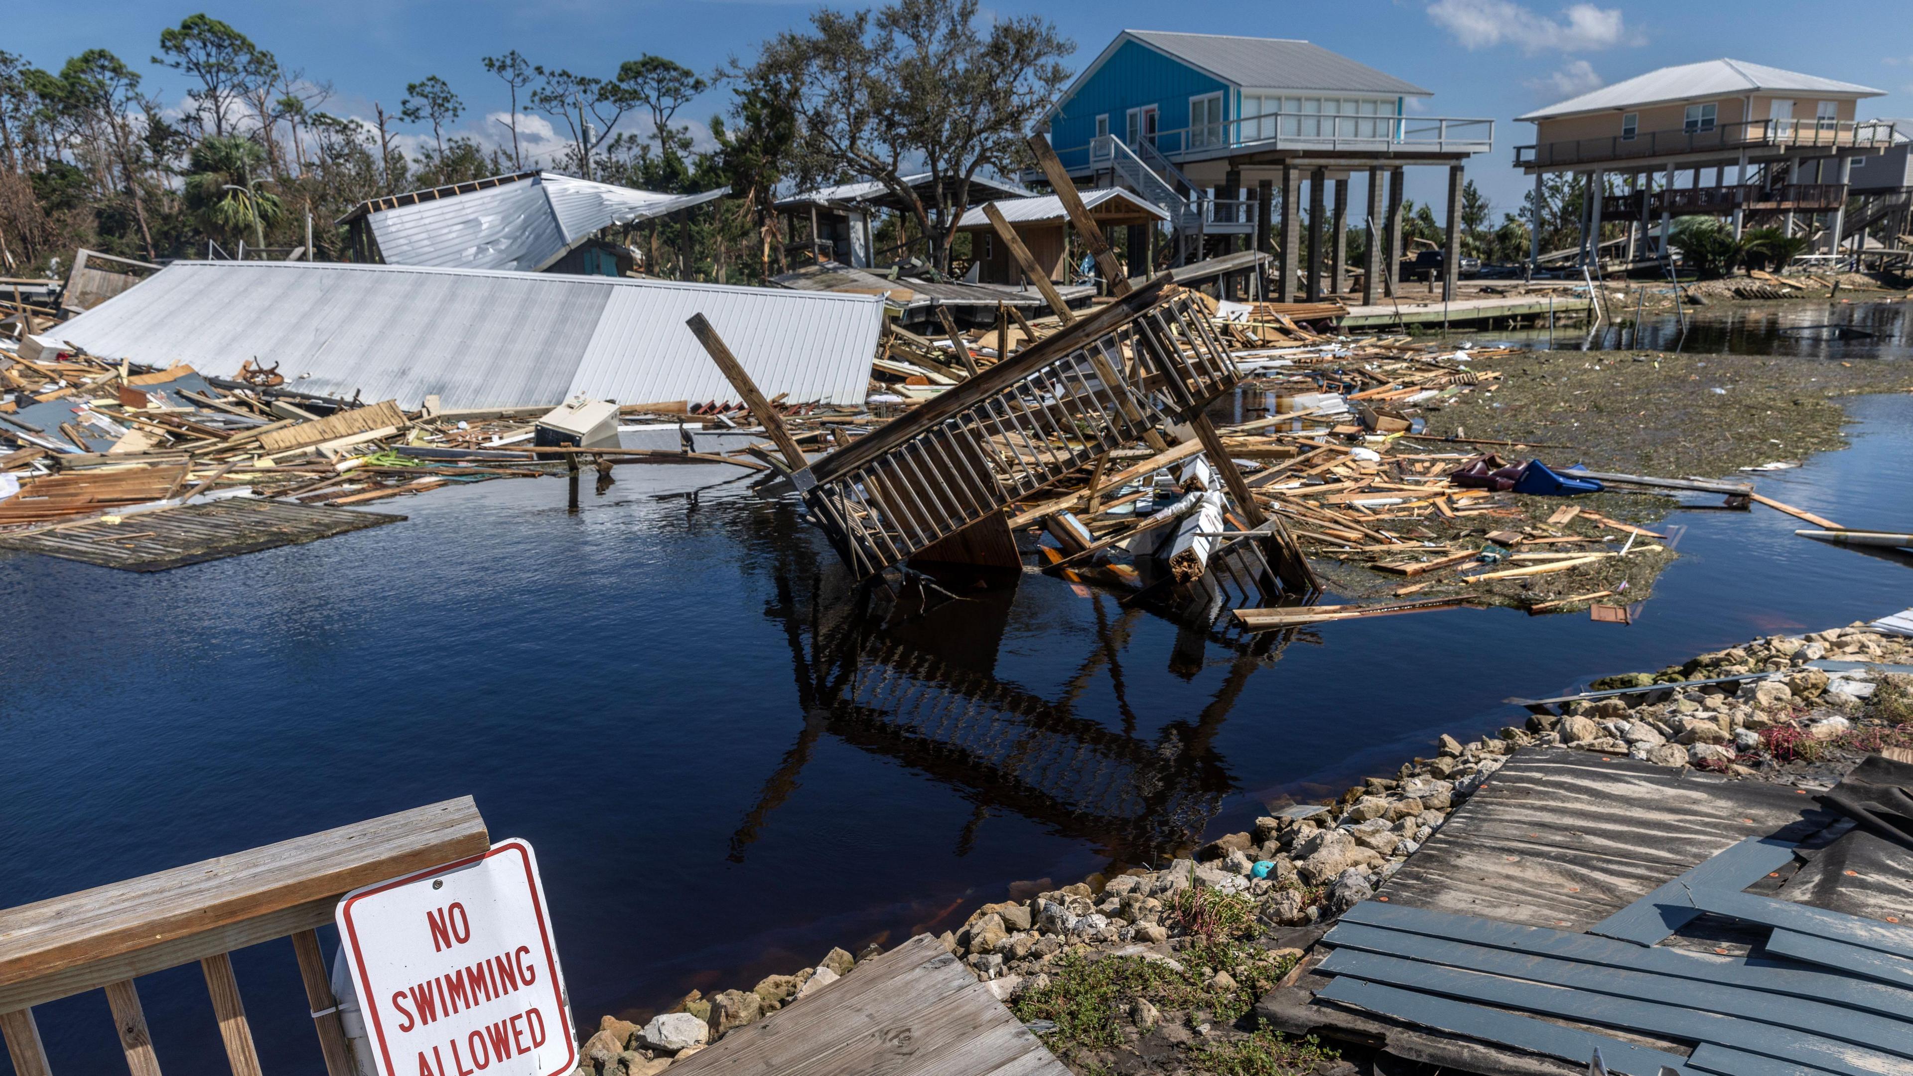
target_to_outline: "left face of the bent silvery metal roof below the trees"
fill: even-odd
[[[538,180],[373,213],[371,232],[392,266],[536,270],[566,243]]]

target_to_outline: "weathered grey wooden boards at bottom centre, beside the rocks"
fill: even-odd
[[[673,1076],[1069,1076],[930,934],[671,1066]]]

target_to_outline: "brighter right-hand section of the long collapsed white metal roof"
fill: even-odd
[[[710,318],[765,396],[847,404],[869,391],[880,297],[662,281],[612,295],[572,391],[627,404],[735,398],[685,327],[693,314]]]

